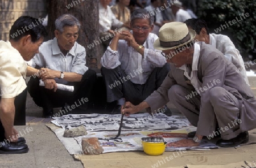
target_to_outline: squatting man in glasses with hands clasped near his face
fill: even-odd
[[[158,36],[150,33],[154,18],[144,18],[147,14],[144,9],[135,10],[131,14],[132,32],[117,33],[101,58],[107,102],[117,101],[113,113],[120,113],[125,100],[142,102],[168,74],[166,58],[153,48]]]

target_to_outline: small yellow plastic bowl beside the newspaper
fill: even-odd
[[[142,139],[142,147],[146,154],[150,156],[159,156],[164,153],[164,150],[166,149],[166,142],[164,141],[151,142],[151,141]]]

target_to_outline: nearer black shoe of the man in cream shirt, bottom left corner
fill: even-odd
[[[27,152],[28,152],[28,147],[26,144],[24,145],[5,144],[4,146],[0,147],[0,154],[20,154],[20,153],[27,153]]]

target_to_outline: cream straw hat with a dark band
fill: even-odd
[[[188,29],[185,23],[174,21],[159,29],[159,38],[154,42],[156,50],[176,49],[188,44],[196,37],[196,32]]]

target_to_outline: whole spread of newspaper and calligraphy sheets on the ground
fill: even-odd
[[[174,150],[208,150],[217,146],[208,140],[203,140],[199,147],[174,148],[168,143],[187,138],[187,133],[194,131],[195,127],[189,124],[188,120],[180,115],[167,117],[158,114],[148,117],[149,114],[134,114],[123,119],[121,135],[113,139],[119,128],[121,114],[69,114],[63,117],[54,118],[52,121],[58,128],[52,130],[64,144],[70,154],[82,154],[81,141],[83,137],[97,137],[104,149],[103,153],[143,150],[142,137],[154,136],[163,137],[167,142],[166,151]],[[88,135],[79,137],[63,137],[65,129],[78,126],[85,126]]]

